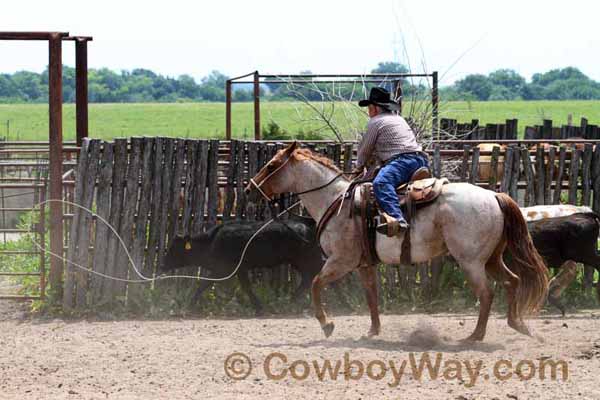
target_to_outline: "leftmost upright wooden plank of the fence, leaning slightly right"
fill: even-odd
[[[88,171],[90,141],[85,140],[79,152],[79,162],[77,163],[77,181],[75,182],[75,199],[74,202],[81,204],[84,193],[84,185],[86,184],[85,176]],[[77,253],[78,241],[81,238],[79,234],[79,220],[82,213],[80,209],[74,211],[73,220],[71,221],[69,234],[69,248],[67,250],[67,260],[77,262],[75,254]],[[62,223],[62,222],[61,222]],[[75,266],[70,262],[65,263],[63,282],[63,309],[69,311],[75,305]]]

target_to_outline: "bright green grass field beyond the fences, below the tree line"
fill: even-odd
[[[233,105],[234,137],[253,137],[253,105]],[[575,124],[586,117],[592,124],[600,124],[600,101],[499,101],[499,102],[446,102],[440,106],[441,116],[481,123],[499,123],[517,118],[522,132],[526,125],[540,124],[552,119],[555,125],[566,123],[573,115]],[[171,136],[222,138],[225,132],[225,104],[91,104],[90,135],[110,139],[128,136]],[[293,102],[263,102],[262,124],[277,122],[290,132],[310,131],[320,124],[306,106]],[[359,129],[366,121],[354,107],[336,107],[336,119],[343,130]],[[349,122],[351,120],[351,122]],[[7,124],[8,121],[8,124]],[[66,104],[63,113],[65,140],[75,135],[75,106]],[[323,131],[327,134],[326,131]],[[0,105],[0,136],[9,140],[45,140],[48,135],[48,107],[43,104]]]

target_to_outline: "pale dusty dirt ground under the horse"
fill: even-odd
[[[309,315],[64,321],[31,318],[0,301],[0,398],[600,399],[599,311],[530,320],[535,338],[494,315],[483,343],[459,342],[475,318],[383,315],[382,334],[369,339],[362,336],[368,316],[334,316],[335,331],[326,339]],[[243,380],[224,368],[234,352],[252,363]],[[425,368],[416,379],[427,356],[434,367],[439,359],[439,375],[433,379]],[[228,372],[239,377],[248,364],[236,357]],[[540,379],[541,362],[560,360],[567,377],[559,365],[554,380],[550,369]],[[326,361],[331,374],[323,369]]]

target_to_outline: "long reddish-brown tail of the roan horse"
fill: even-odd
[[[504,215],[504,239],[512,253],[508,268],[519,277],[516,292],[517,314],[532,314],[542,307],[548,293],[548,269],[527,230],[518,204],[505,193],[496,194]]]

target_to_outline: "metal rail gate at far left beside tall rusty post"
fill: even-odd
[[[75,165],[73,151],[66,149],[63,171]],[[0,142],[0,299],[45,297],[49,224],[48,207],[40,203],[47,198],[48,167],[48,142]],[[63,198],[72,197],[72,179],[64,176]]]

